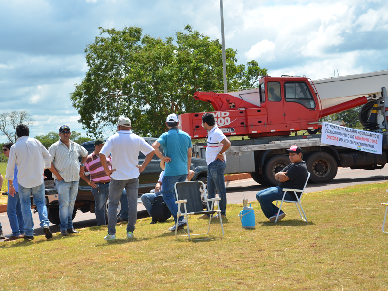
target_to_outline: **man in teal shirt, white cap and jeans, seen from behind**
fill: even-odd
[[[178,205],[175,204],[174,185],[177,182],[183,182],[189,178],[190,163],[191,163],[191,139],[190,136],[178,129],[179,119],[177,114],[167,116],[166,125],[168,131],[164,132],[152,145],[155,149],[155,154],[166,162],[166,169],[163,177],[163,199],[171,211],[175,219],[175,224],[169,228],[170,231],[175,231],[187,225],[186,219],[183,217],[177,221]],[[161,153],[159,147],[163,146],[164,154]]]

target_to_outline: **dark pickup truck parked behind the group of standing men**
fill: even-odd
[[[144,139],[150,145],[152,145],[154,141],[156,141],[156,138],[153,137],[145,137]],[[81,146],[86,148],[88,154],[94,151],[93,141],[85,142],[81,144]],[[160,150],[163,152],[162,146],[160,147]],[[144,162],[145,158],[145,155],[143,155],[142,153],[139,154],[139,165]],[[140,197],[142,194],[148,193],[155,188],[155,184],[159,179],[159,174],[162,171],[159,166],[160,161],[161,160],[156,155],[154,155],[151,162],[147,165],[146,169],[140,174],[138,203],[141,203]],[[194,177],[192,178],[193,181],[200,180],[204,183],[207,182],[208,169],[206,165],[206,160],[193,157],[191,160],[190,169],[195,172]],[[58,192],[54,186],[54,180],[49,169],[45,170],[45,176],[47,177],[45,178],[45,196],[48,218],[51,223],[60,224]],[[76,216],[77,210],[81,210],[84,213],[88,211],[90,211],[91,213],[95,212],[94,197],[91,189],[91,186],[89,186],[83,179],[80,178],[77,200],[75,202],[73,211],[73,219]],[[31,203],[32,205],[34,205],[32,196]],[[106,204],[108,205],[108,201],[106,202]],[[120,207],[121,206],[119,205],[118,212],[120,211]]]

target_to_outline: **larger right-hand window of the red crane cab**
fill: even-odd
[[[315,108],[314,98],[305,82],[284,83],[286,102],[296,102],[306,108]]]

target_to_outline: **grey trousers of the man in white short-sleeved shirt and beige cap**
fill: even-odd
[[[137,196],[139,190],[139,179],[114,180],[109,184],[109,204],[108,204],[108,234],[116,234],[117,208],[123,190],[125,189],[128,199],[128,224],[127,232],[135,230],[137,219]],[[121,206],[122,208],[125,205]]]

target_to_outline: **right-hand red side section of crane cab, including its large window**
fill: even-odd
[[[284,81],[283,92],[284,121],[298,122],[318,118],[318,106],[306,82]]]

